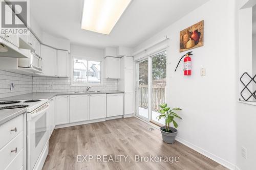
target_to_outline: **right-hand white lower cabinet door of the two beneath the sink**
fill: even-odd
[[[90,94],[90,120],[106,117],[106,94]]]

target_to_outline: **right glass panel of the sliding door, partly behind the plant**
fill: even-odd
[[[164,123],[164,118],[156,118],[159,113],[159,105],[165,103],[166,88],[166,52],[152,57],[152,120]]]

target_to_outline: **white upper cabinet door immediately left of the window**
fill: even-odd
[[[68,51],[57,51],[57,75],[58,77],[69,77],[69,53]]]

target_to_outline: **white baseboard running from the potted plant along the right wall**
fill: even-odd
[[[222,159],[222,158],[220,158],[220,157],[218,157],[218,156],[216,156],[216,155],[214,155],[214,154],[212,154],[212,153],[210,153],[210,152],[208,152],[208,151],[206,151],[206,150],[204,150],[204,149],[202,149],[198,146],[196,146],[193,143],[190,143],[190,142],[188,142],[188,141],[186,141],[186,140],[184,140],[180,137],[176,137],[176,140],[181,142],[182,144],[186,145],[187,147],[197,151],[198,153],[210,158],[211,160],[214,160],[215,162],[217,162],[217,163],[219,163],[219,164],[221,164],[221,165],[223,165],[223,166],[225,166],[225,167],[227,167],[231,170],[240,170],[238,167],[236,167],[236,165],[234,165],[234,164],[232,164],[232,163],[230,163],[230,162],[228,162],[228,161],[226,161],[226,160],[224,160],[224,159]]]

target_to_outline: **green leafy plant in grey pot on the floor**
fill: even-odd
[[[160,128],[160,131],[161,131],[162,137],[163,137],[163,141],[166,142],[166,143],[174,143],[175,142],[175,137],[178,133],[178,131],[176,129],[178,127],[178,124],[174,119],[175,118],[182,119],[174,111],[175,110],[180,111],[182,109],[175,107],[175,108],[170,110],[170,108],[167,107],[167,104],[161,104],[160,108],[161,108],[160,111],[159,111],[160,115],[157,116],[158,120],[160,120],[161,118],[165,119],[165,126],[162,126]],[[173,123],[175,128],[170,127],[170,123]]]

